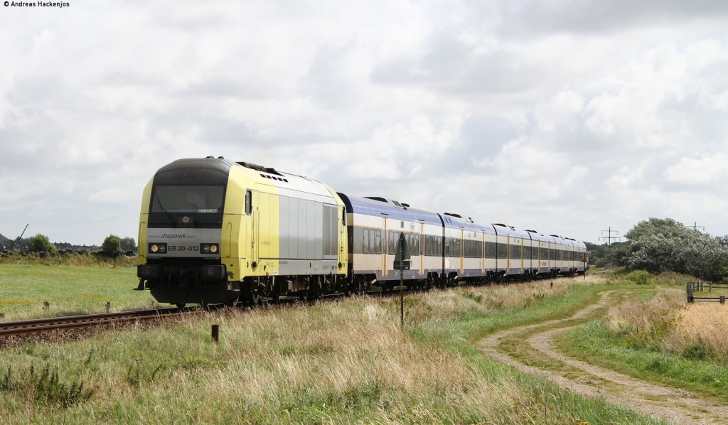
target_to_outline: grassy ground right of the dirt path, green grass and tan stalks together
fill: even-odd
[[[684,297],[684,287],[659,287],[652,298],[624,300],[604,319],[560,335],[558,346],[582,360],[726,403],[728,308],[687,305]]]

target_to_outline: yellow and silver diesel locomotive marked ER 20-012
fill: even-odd
[[[143,192],[138,289],[178,306],[333,292],[346,285],[346,217],[336,191],[317,180],[179,159]]]

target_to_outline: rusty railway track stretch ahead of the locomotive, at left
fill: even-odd
[[[151,320],[194,311],[198,311],[198,309],[187,307],[183,309],[136,310],[119,313],[83,314],[79,316],[50,317],[48,319],[20,320],[17,322],[0,322],[0,338],[28,335],[31,333],[44,333],[51,330],[71,330],[82,327],[111,325],[112,323]]]

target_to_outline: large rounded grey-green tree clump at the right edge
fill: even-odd
[[[702,279],[720,277],[726,270],[724,239],[689,229],[671,218],[641,221],[625,237],[630,243],[624,261],[630,269],[677,271]]]

